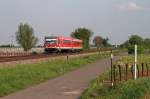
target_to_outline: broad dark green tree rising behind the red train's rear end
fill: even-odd
[[[90,37],[93,35],[93,32],[86,28],[78,28],[71,33],[71,37],[83,40],[84,49],[89,48]]]

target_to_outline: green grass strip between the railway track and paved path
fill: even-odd
[[[69,62],[49,60],[36,64],[20,64],[15,67],[0,68],[0,96],[39,84],[107,56],[108,54],[96,54],[69,59]]]

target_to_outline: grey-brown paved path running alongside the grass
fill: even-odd
[[[109,59],[103,59],[0,99],[78,99],[90,81],[110,66],[109,63]]]

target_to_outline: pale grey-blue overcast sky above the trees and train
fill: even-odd
[[[20,22],[30,24],[39,43],[86,27],[120,44],[132,34],[150,38],[150,0],[0,0],[0,44],[11,42]]]

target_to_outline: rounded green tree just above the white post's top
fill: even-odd
[[[131,45],[142,45],[143,44],[143,38],[140,37],[139,35],[132,35],[131,37],[129,37],[129,43]]]

